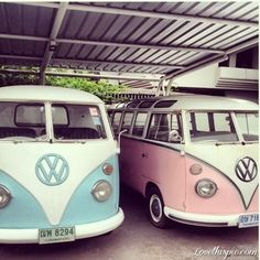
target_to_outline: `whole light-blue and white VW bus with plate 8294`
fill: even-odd
[[[117,228],[117,151],[96,96],[0,88],[0,243],[72,241]]]

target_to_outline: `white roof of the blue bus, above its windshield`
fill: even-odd
[[[0,100],[15,101],[57,101],[57,102],[91,102],[100,104],[101,99],[93,94],[63,87],[52,86],[9,86],[0,88]]]

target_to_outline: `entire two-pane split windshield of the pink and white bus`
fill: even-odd
[[[191,111],[187,122],[193,142],[238,142],[238,133],[241,141],[258,141],[257,112]]]

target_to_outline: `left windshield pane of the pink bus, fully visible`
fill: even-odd
[[[191,111],[187,113],[191,141],[193,142],[236,142],[231,115],[221,111]]]

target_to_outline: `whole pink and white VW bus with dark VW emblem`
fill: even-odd
[[[258,226],[258,105],[181,95],[109,111],[120,174],[147,198],[151,223]]]

